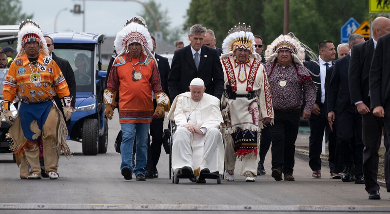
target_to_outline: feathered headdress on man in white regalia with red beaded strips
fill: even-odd
[[[234,53],[235,49],[246,49],[251,52],[251,55],[259,59],[260,55],[254,52],[254,36],[251,26],[245,23],[238,23],[228,32],[228,36],[223,40],[221,57],[227,57]]]

